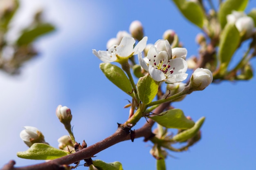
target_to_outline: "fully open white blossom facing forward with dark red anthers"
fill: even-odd
[[[170,84],[182,82],[188,76],[186,74],[188,66],[183,59],[186,57],[185,49],[180,48],[180,50],[175,51],[176,58],[172,59],[171,46],[169,45],[167,40],[158,40],[156,45],[148,51],[147,57],[144,58],[139,51],[139,64],[157,82],[165,81]]]

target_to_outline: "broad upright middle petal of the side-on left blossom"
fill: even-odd
[[[124,37],[119,46],[116,48],[116,53],[120,57],[128,57],[133,53],[133,45],[135,44],[135,40],[132,37]]]

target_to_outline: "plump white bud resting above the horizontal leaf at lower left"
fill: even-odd
[[[45,137],[43,133],[38,130],[38,128],[32,126],[25,126],[25,130],[20,132],[20,138],[25,142],[25,144],[30,147],[34,143],[43,143],[48,144],[45,142]],[[49,145],[49,144],[48,144]]]

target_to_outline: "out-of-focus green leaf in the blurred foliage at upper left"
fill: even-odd
[[[49,23],[38,24],[33,29],[24,30],[16,43],[19,46],[27,45],[36,40],[36,38],[39,38],[40,36],[45,35],[46,33],[54,31],[54,29],[54,26]]]

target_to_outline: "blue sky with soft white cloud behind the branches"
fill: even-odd
[[[128,31],[133,20],[142,22],[148,43],[155,43],[166,29],[173,29],[188,50],[187,57],[198,52],[195,35],[200,30],[182,17],[170,0],[22,0],[10,38],[39,7],[45,9],[45,18],[56,24],[57,30],[37,41],[40,55],[25,64],[21,75],[10,77],[0,72],[0,166],[10,159],[15,159],[17,166],[40,162],[16,157],[16,152],[27,150],[19,137],[23,126],[37,127],[49,144],[58,147],[57,139],[67,135],[55,115],[59,104],[72,110],[76,141],[85,139],[88,145],[115,132],[117,122],[126,121],[128,109],[123,106],[129,97],[101,73],[101,61],[92,49],[105,50],[106,42],[118,31]],[[256,2],[250,1],[247,11],[253,7]],[[243,51],[237,53],[234,63]],[[256,68],[255,60],[251,64]],[[168,157],[167,168],[255,170],[255,85],[255,77],[211,84],[174,103],[185,115],[194,120],[205,116],[206,121],[202,140],[189,151],[170,152],[177,158]],[[144,123],[141,119],[135,128]],[[142,138],[125,141],[100,152],[96,159],[120,161],[125,170],[154,170],[155,159],[149,154],[152,145]]]

